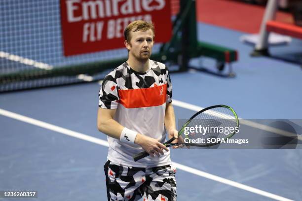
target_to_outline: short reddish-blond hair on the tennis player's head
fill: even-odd
[[[155,37],[155,32],[154,32],[154,25],[152,22],[146,22],[143,20],[137,20],[134,22],[131,22],[125,29],[124,31],[124,37],[125,40],[127,40],[128,43],[130,43],[131,40],[131,32],[137,32],[137,31],[143,31],[146,32],[147,30],[151,29],[153,32],[153,39]]]

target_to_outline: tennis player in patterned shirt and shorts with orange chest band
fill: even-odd
[[[124,36],[128,60],[105,77],[99,92],[98,129],[109,142],[108,201],[175,201],[176,168],[162,144],[166,131],[178,136],[169,72],[150,60],[153,24],[134,21]],[[144,150],[150,156],[134,162]]]

